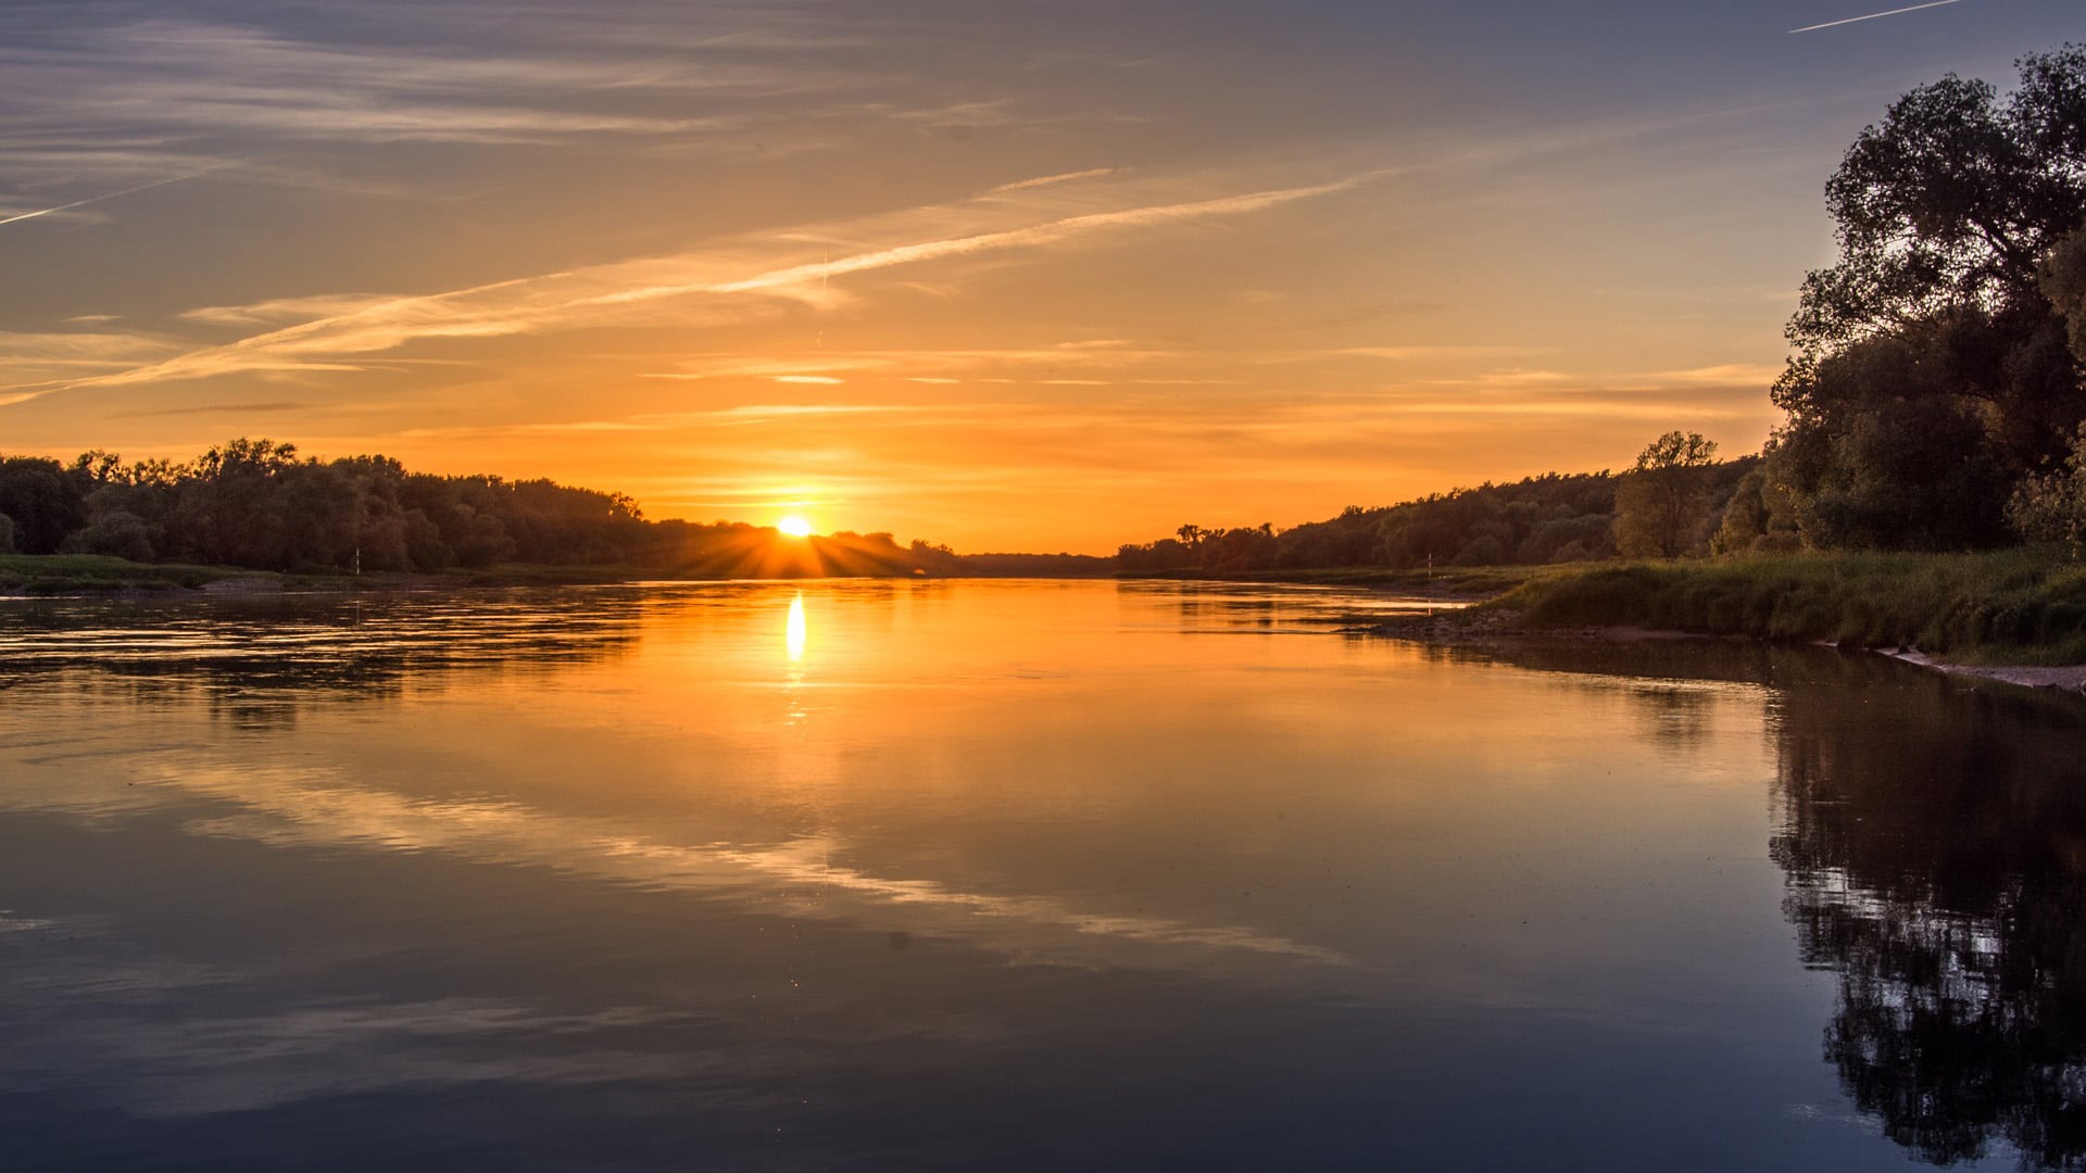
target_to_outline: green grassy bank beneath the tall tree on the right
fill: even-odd
[[[1489,607],[1529,626],[1917,647],[1963,664],[2086,664],[2086,566],[2061,551],[1804,553],[1581,566]]]

